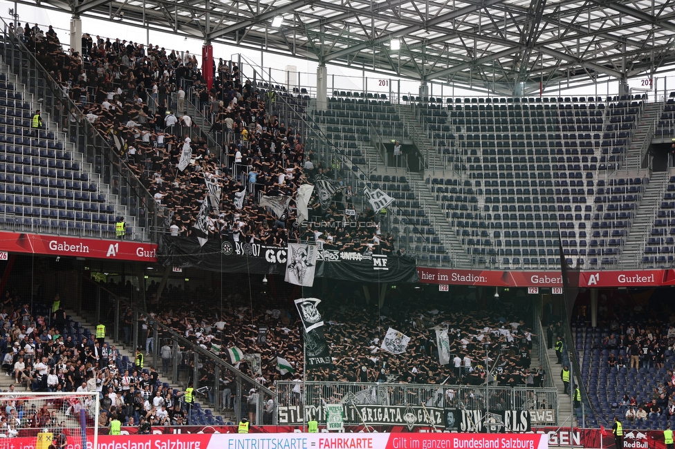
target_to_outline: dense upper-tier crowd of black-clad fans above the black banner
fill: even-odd
[[[173,236],[187,236],[194,229],[201,204],[207,201],[205,180],[210,180],[221,191],[219,204],[210,204],[205,226],[210,235],[279,246],[286,246],[289,239],[321,238],[343,251],[393,251],[391,236],[380,236],[372,225],[324,232],[312,225],[293,226],[297,218],[293,201],[281,216],[259,205],[259,195],[293,198],[297,187],[313,182],[315,175],[335,178],[337,173],[305,149],[302,136],[291,126],[270,115],[268,97],[241,79],[236,64],[220,59],[208,89],[189,52],[181,55],[158,45],[84,34],[79,54],[72,48],[64,51],[51,26],[44,33],[37,25],[26,25],[17,33],[76,105],[66,115],[64,130],[88,121],[94,132],[107,138],[154,200],[167,208],[167,227]],[[212,153],[202,137],[192,140],[189,135],[194,133],[185,132],[195,126],[186,113],[186,101],[193,93],[213,122],[207,132],[219,136],[222,155]],[[188,147],[192,157],[181,170],[178,162]],[[379,222],[367,209],[344,213],[354,205],[351,187],[344,189],[344,202],[342,198],[339,191],[333,206],[324,210],[315,192],[310,221]]]

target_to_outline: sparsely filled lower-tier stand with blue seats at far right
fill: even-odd
[[[659,309],[664,318],[655,315]],[[595,328],[583,320],[572,323],[582,379],[599,424],[607,426],[618,417],[625,426],[661,429],[675,422],[672,317],[665,318],[669,312],[663,299],[649,309],[626,312],[627,319],[611,309],[604,312]]]

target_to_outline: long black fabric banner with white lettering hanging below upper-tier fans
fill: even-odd
[[[201,268],[223,273],[286,272],[287,249],[210,238],[203,246],[194,237],[161,236],[157,259],[164,267]],[[320,251],[315,277],[357,282],[416,283],[413,258]]]

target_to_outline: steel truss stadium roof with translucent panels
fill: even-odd
[[[19,0],[35,6],[35,0]],[[37,0],[41,8],[518,95],[675,63],[670,0]],[[275,18],[277,18],[275,20]],[[392,41],[400,49],[391,48]]]

